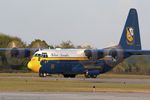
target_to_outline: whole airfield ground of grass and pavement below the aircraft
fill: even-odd
[[[92,79],[1,74],[0,100],[149,100],[149,76],[110,76]]]

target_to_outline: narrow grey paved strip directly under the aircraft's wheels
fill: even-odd
[[[0,78],[20,78],[20,79],[39,79],[39,77],[31,76],[7,76]],[[127,78],[54,78],[54,77],[44,77],[41,80],[80,80],[80,81],[88,81],[92,83],[119,83],[119,84],[150,84],[150,79],[127,79]]]

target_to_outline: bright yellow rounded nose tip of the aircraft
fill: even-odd
[[[37,72],[37,73],[39,72],[39,69],[41,67],[40,61],[30,61],[27,66],[33,72]]]

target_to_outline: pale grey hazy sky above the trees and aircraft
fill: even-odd
[[[0,32],[57,45],[118,44],[130,8],[139,15],[143,49],[150,49],[150,0],[0,0]]]

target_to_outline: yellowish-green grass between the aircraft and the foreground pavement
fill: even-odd
[[[0,73],[0,92],[150,92],[150,84],[91,82],[74,79],[40,78],[35,73]],[[78,76],[78,77],[83,77]],[[146,75],[103,74],[103,78],[150,79]],[[101,78],[98,77],[100,80]]]

